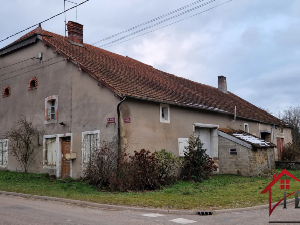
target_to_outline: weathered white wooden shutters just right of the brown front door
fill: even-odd
[[[83,166],[87,167],[91,160],[91,153],[99,148],[99,138],[98,134],[86,134],[83,137]]]

